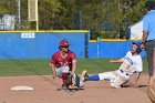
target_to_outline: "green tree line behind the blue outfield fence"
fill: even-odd
[[[17,16],[18,1],[0,0],[0,13]],[[39,30],[90,30],[91,38],[126,38],[127,28],[146,13],[147,0],[38,0]],[[34,30],[28,21],[28,0],[20,0],[21,25]]]

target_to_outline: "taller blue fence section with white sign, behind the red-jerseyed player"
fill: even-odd
[[[49,59],[68,39],[78,58],[87,56],[87,31],[1,32],[0,59]]]

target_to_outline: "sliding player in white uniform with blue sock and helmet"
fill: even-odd
[[[86,74],[86,70],[84,70],[82,73],[83,76],[82,80],[83,81],[108,80],[110,85],[112,87],[118,89],[121,87],[121,85],[123,85],[130,80],[131,75],[135,73],[136,76],[134,85],[137,86],[137,81],[143,70],[142,58],[140,55],[142,49],[140,45],[141,45],[140,43],[133,42],[131,51],[128,51],[124,58],[110,61],[112,63],[122,63],[118,70],[99,73],[91,76],[89,76]]]

